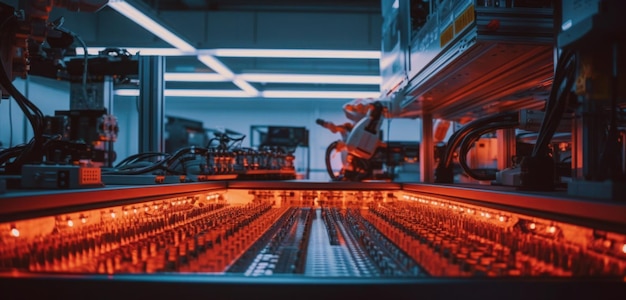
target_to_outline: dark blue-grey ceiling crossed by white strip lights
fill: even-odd
[[[252,51],[254,49],[316,49],[369,52],[378,52],[380,49],[380,0],[128,0],[123,2],[128,2],[146,13],[199,52],[212,51],[216,48],[252,49]],[[96,34],[88,42],[90,47],[141,48],[143,46],[152,48],[155,47],[153,45],[170,49],[175,47],[156,37],[158,34],[154,34],[154,42],[144,41],[144,36],[151,36],[152,30],[148,28],[146,32],[134,24],[136,19],[134,17],[126,16],[125,20],[116,22],[113,17],[119,18],[120,11],[118,9],[114,11],[112,7],[109,3],[109,7],[98,12],[102,17],[94,25],[97,28],[91,30]],[[103,20],[106,20],[106,23]],[[81,26],[82,24],[85,22],[81,23]],[[104,26],[107,27],[106,32],[102,30]],[[190,30],[192,26],[193,30]],[[90,32],[87,26],[80,30]],[[168,75],[225,74],[214,65],[203,63],[199,59],[199,52],[168,56],[166,73]],[[380,91],[378,57],[347,59],[307,56],[262,57],[262,55],[255,57],[254,52],[246,57],[219,55],[213,52],[208,55],[217,60],[218,64],[223,65],[226,73],[234,74],[234,77],[227,75],[222,80],[208,82],[170,80],[166,82],[165,88],[245,91],[246,97],[260,98],[330,97],[343,100],[374,96]],[[264,75],[268,79],[264,79]],[[276,80],[275,75],[286,76]],[[304,75],[361,76],[366,80],[364,82],[358,80],[333,82],[332,77],[314,78],[311,81],[300,80]],[[299,79],[296,80],[296,78]],[[378,80],[372,80],[373,78]],[[289,82],[290,79],[294,79],[293,82]],[[295,93],[287,93],[289,91]],[[339,93],[338,96],[324,94],[330,92]],[[350,92],[354,92],[354,95],[352,96]],[[217,94],[223,97],[225,93]],[[202,95],[206,96],[206,94]],[[229,97],[238,97],[239,94],[232,93],[232,95]]]

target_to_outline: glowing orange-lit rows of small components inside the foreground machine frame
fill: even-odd
[[[2,223],[0,267],[5,275],[626,276],[626,235],[602,224],[414,191],[283,185]]]

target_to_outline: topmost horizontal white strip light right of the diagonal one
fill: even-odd
[[[380,59],[380,51],[368,50],[213,49],[210,53],[226,57]]]

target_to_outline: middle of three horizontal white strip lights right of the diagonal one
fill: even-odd
[[[237,75],[237,78],[251,82],[265,83],[325,83],[325,84],[372,84],[380,85],[380,76],[361,75],[318,75],[318,74],[262,74],[247,73]]]

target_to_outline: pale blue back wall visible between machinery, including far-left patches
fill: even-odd
[[[46,78],[31,76],[27,81],[17,79],[14,84],[28,95],[44,115],[53,115],[55,110],[69,108],[69,84]],[[26,89],[28,86],[28,89]],[[13,100],[11,100],[13,101]],[[202,99],[202,98],[167,98],[166,115],[199,120],[206,128],[227,128],[246,134],[244,145],[249,146],[251,125],[282,125],[303,126],[310,132],[310,169],[312,179],[327,180],[325,174],[324,153],[326,147],[340,139],[327,129],[315,124],[318,118],[334,123],[346,122],[342,106],[348,100],[303,100],[303,99]],[[137,99],[136,97],[116,96],[114,115],[118,118],[120,133],[115,143],[118,161],[137,153]],[[9,118],[9,101],[0,102],[0,141],[4,147],[10,143],[13,133],[13,145],[24,143],[32,137],[30,125],[27,126],[27,137],[24,138],[24,115],[15,102],[11,103]],[[12,122],[9,122],[9,121]],[[420,122],[411,119],[395,119],[382,126],[385,137],[395,141],[419,141]],[[13,124],[11,128],[10,124]],[[306,167],[306,151],[296,152],[296,166],[299,172]]]

